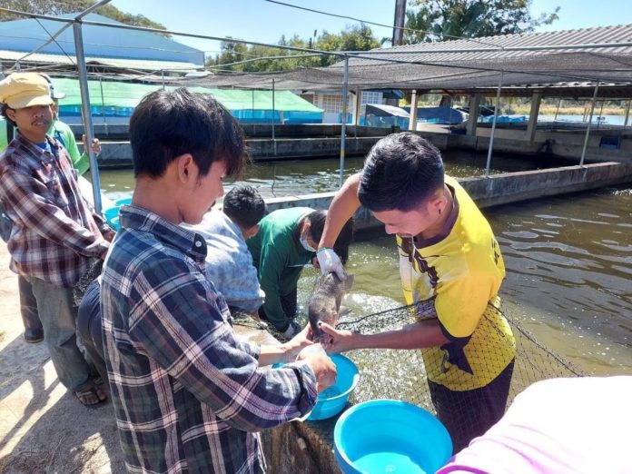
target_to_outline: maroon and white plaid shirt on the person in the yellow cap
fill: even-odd
[[[114,231],[84,200],[64,147],[46,140],[53,153],[18,131],[0,156],[0,202],[13,222],[7,248],[14,272],[70,288]]]

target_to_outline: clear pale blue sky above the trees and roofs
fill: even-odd
[[[345,15],[373,23],[392,25],[395,0],[281,0],[336,15]],[[244,40],[276,44],[281,35],[302,38],[323,31],[340,33],[357,25],[351,19],[320,15],[266,0],[113,0],[111,5],[133,15],[145,15],[167,29],[199,35],[232,36]],[[588,28],[591,26],[632,24],[630,0],[533,0],[531,13],[551,13],[560,7],[559,20],[537,31]],[[378,38],[391,37],[387,27],[370,25]],[[174,36],[183,44],[217,54],[219,43]]]

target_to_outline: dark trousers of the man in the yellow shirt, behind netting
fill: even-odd
[[[453,391],[428,380],[430,398],[437,417],[449,431],[454,453],[467,448],[469,441],[485,433],[505,414],[514,361],[480,389]]]

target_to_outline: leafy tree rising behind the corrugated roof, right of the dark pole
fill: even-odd
[[[532,32],[558,20],[559,7],[537,18],[529,13],[532,0],[410,0],[405,44]],[[422,32],[431,32],[428,35]],[[450,37],[452,36],[452,37]]]

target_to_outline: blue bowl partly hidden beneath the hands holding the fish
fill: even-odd
[[[331,418],[344,409],[349,400],[351,392],[358,385],[360,372],[356,365],[341,354],[331,356],[331,360],[336,364],[336,383],[329,389],[318,394],[318,401],[307,420],[325,420]],[[281,367],[284,364],[274,364],[273,368]]]

